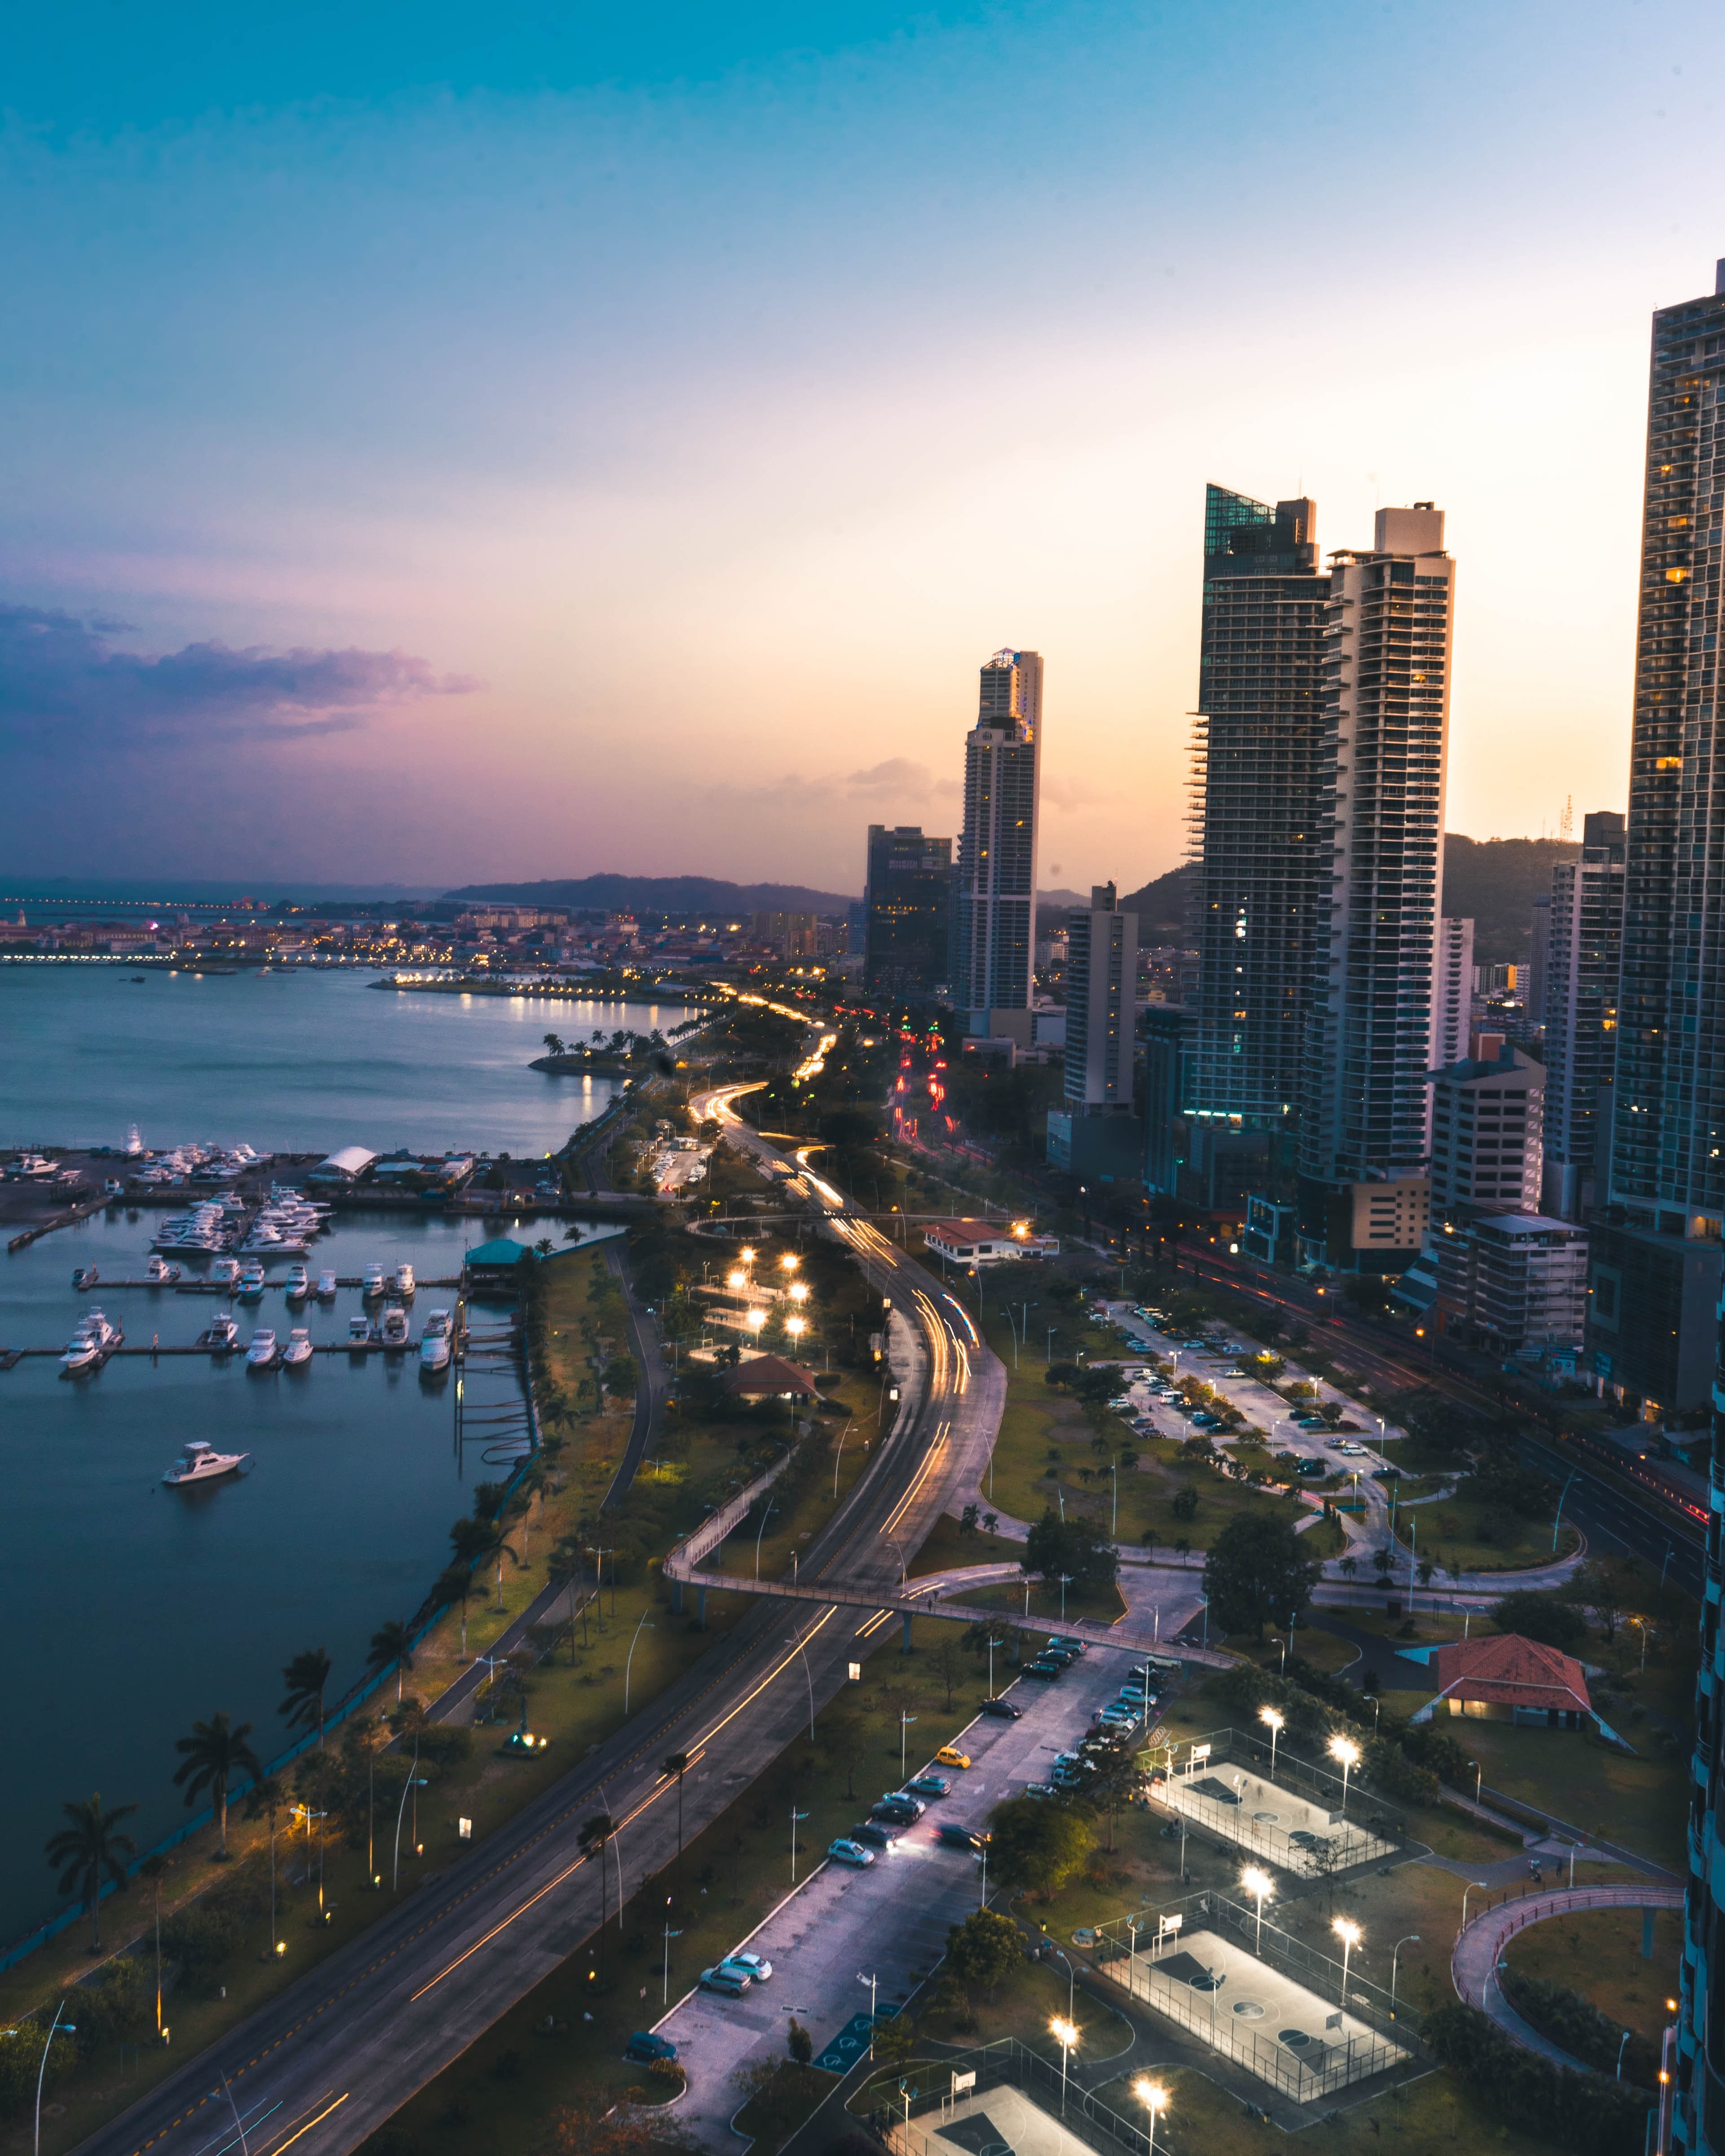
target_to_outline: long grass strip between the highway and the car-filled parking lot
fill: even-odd
[[[733,1951],[785,1899],[791,1889],[791,1802],[809,1813],[798,1828],[798,1850],[804,1852],[798,1876],[806,1878],[826,1843],[860,1820],[882,1787],[897,1783],[899,1712],[919,1714],[921,1749],[910,1755],[912,1768],[975,1718],[988,1695],[983,1671],[964,1658],[949,1708],[944,1680],[934,1669],[942,1636],[953,1636],[949,1623],[916,1619],[910,1658],[897,1651],[897,1626],[882,1632],[873,1647],[862,1641],[862,1680],[822,1710],[815,1744],[798,1738],[768,1761],[712,1826],[690,1837],[681,1865],[673,1861],[623,1904],[621,1927],[612,1910],[604,1953],[589,1938],[403,2104],[390,2124],[410,2145],[423,2156],[530,2150],[548,2134],[556,2106],[578,2091],[645,2098],[645,2070],[623,2061],[623,2044],[632,2029],[651,2027],[666,1999],[675,2003],[703,1968]],[[873,1740],[850,1777],[830,1744],[839,1710],[860,1710]],[[845,1794],[847,1787],[856,1794]],[[668,1986],[666,1921],[681,1932],[671,1940]],[[584,2022],[584,2014],[593,2020]],[[537,2033],[546,2018],[554,2024],[552,2035]],[[834,2031],[817,2027],[813,2033],[824,2044]]]

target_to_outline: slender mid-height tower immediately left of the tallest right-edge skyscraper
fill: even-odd
[[[1600,1089],[1611,1087],[1617,1065],[1622,962],[1624,819],[1600,811],[1583,817],[1581,860],[1559,860],[1550,875],[1540,1207],[1559,1220],[1583,1220],[1596,1199]]]

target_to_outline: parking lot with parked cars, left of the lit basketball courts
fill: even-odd
[[[742,1999],[696,1988],[653,2024],[688,2070],[677,2119],[705,2147],[737,2145],[729,2122],[742,2096],[731,2076],[759,2059],[787,2057],[791,2014],[813,2033],[815,2057],[837,2059],[845,2046],[867,2042],[867,2031],[852,2027],[869,2012],[869,1986],[858,1975],[878,1979],[882,2012],[901,2005],[929,1975],[947,1949],[949,1925],[977,1908],[983,1891],[981,1858],[942,1848],[940,1824],[983,1826],[1003,1798],[1046,1781],[1054,1757],[1078,1744],[1130,1671],[1130,1656],[1091,1647],[1059,1682],[1011,1688],[1022,1720],[979,1716],[951,1738],[942,1733],[942,1742],[957,1742],[972,1761],[968,1772],[940,1768],[951,1794],[932,1800],[891,1850],[878,1850],[867,1871],[824,1863],[757,1932],[735,1943],[765,1955],[772,1979]],[[884,1787],[882,1781],[880,1789],[862,1792],[858,1783],[858,1820]],[[789,1887],[789,1839],[785,1856]]]

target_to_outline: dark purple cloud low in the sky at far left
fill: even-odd
[[[410,651],[265,651],[185,645],[149,658],[114,651],[123,623],[0,606],[0,724],[26,748],[63,729],[123,748],[201,735],[300,740],[349,733],[380,705],[466,696],[481,683],[436,675]]]

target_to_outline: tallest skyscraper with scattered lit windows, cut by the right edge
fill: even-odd
[[[1611,1184],[1587,1326],[1593,1376],[1643,1412],[1710,1397],[1725,1227],[1721,420],[1725,270],[1712,298],[1654,315],[1647,392]]]

